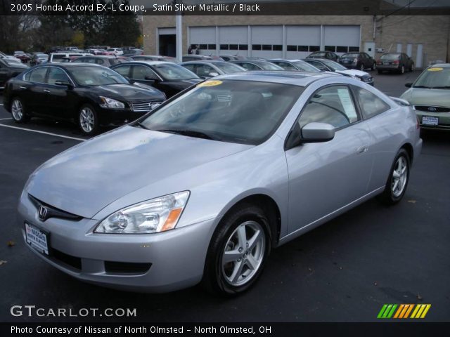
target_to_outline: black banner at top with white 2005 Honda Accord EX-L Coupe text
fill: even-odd
[[[444,6],[434,0],[421,1],[420,6],[388,0],[167,0],[145,5],[136,0],[0,1],[0,15],[450,15],[450,1]]]

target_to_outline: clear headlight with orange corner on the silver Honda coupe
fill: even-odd
[[[96,233],[144,234],[172,230],[188,201],[189,192],[178,192],[128,206],[105,218]]]

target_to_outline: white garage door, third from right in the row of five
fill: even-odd
[[[252,56],[258,58],[283,56],[283,26],[252,26],[250,37]]]

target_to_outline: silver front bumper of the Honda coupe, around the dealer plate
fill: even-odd
[[[155,234],[94,234],[99,223],[94,219],[41,222],[26,192],[18,212],[24,239],[25,222],[50,233],[49,256],[27,246],[53,267],[84,282],[141,292],[174,291],[200,282],[216,224],[211,219]]]

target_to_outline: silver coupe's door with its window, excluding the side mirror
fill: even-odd
[[[312,225],[363,197],[371,177],[370,133],[361,121],[349,86],[325,86],[313,93],[293,131],[311,122],[335,126],[335,137],[325,143],[304,143],[285,151],[289,232]]]

